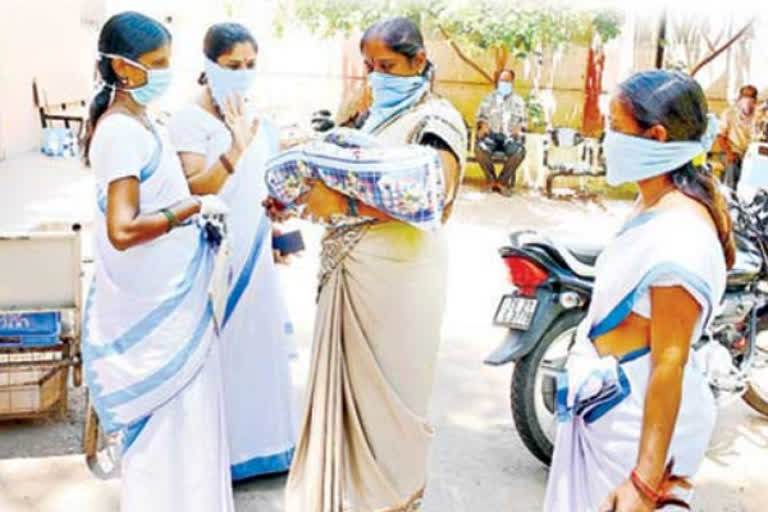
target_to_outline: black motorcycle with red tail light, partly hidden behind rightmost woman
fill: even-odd
[[[768,416],[768,193],[749,205],[727,191],[734,221],[737,257],[716,317],[693,349],[718,405],[742,398]],[[501,345],[485,360],[514,362],[510,386],[512,415],[526,448],[549,464],[556,432],[556,376],[565,368],[576,328],[589,307],[595,262],[602,244],[547,236],[536,231],[511,235],[500,249],[513,285],[502,296],[494,324],[507,329]]]

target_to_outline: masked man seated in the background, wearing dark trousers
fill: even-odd
[[[523,129],[528,125],[525,102],[514,92],[515,72],[505,69],[499,74],[496,90],[488,94],[477,110],[477,144],[475,157],[488,180],[488,189],[511,195],[515,172],[525,159]],[[505,155],[504,167],[497,177],[492,156]]]

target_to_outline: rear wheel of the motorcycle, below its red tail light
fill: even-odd
[[[546,465],[552,461],[554,449],[555,379],[546,375],[542,366],[555,361],[564,364],[584,315],[584,311],[572,311],[558,318],[512,371],[510,401],[515,427],[525,447]]]

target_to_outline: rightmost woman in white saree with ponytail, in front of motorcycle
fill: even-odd
[[[611,102],[607,180],[635,182],[640,196],[597,261],[592,302],[558,379],[544,510],[690,507],[688,479],[715,422],[691,344],[735,257],[725,201],[700,167],[716,133],[704,92],[680,73],[638,73]]]

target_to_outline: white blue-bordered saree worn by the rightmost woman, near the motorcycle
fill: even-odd
[[[558,431],[544,510],[592,512],[637,460],[651,361],[649,349],[621,360],[601,357],[592,340],[630,312],[649,318],[651,287],[683,287],[701,305],[692,335],[711,321],[725,290],[726,268],[714,229],[687,211],[635,218],[597,262],[592,303],[579,325],[567,371],[557,384]],[[676,476],[693,476],[715,421],[714,397],[692,350],[685,368],[680,411],[669,446]],[[690,493],[676,490],[687,502]],[[670,508],[671,510],[671,508]]]

